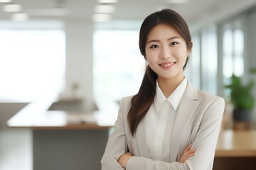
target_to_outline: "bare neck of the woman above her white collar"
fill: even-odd
[[[171,96],[171,94],[175,91],[177,86],[181,84],[181,81],[183,81],[183,77],[178,77],[178,78],[171,78],[171,79],[163,79],[159,78],[158,83],[161,91],[163,92],[164,96],[168,98]]]

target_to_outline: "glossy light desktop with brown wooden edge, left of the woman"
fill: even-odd
[[[42,96],[18,111],[7,125],[11,128],[31,128],[41,130],[60,129],[109,129],[117,118],[117,106],[107,111],[92,113],[72,113],[68,111],[48,111],[55,96]]]

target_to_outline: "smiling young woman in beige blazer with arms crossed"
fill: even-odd
[[[102,170],[212,169],[224,100],[184,77],[192,48],[186,22],[171,9],[152,13],[139,48],[146,72],[138,94],[120,102]]]

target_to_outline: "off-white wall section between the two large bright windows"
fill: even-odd
[[[66,33],[66,95],[73,95],[73,84],[78,84],[75,96],[84,101],[85,111],[93,110],[92,90],[92,22],[65,21]]]

